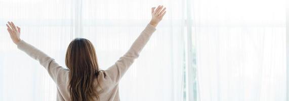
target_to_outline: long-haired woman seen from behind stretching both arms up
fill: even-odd
[[[57,84],[57,100],[90,101],[120,100],[118,82],[142,48],[149,40],[155,27],[166,14],[166,8],[158,6],[151,9],[152,19],[129,51],[107,70],[100,70],[93,44],[84,38],[76,38],[67,48],[65,64],[59,66],[54,59],[20,39],[20,28],[8,22],[7,30],[17,47],[44,66]]]

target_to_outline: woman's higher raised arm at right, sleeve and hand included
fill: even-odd
[[[151,21],[135,40],[129,51],[120,57],[114,65],[105,70],[106,75],[113,82],[118,83],[123,74],[125,74],[129,67],[133,64],[134,60],[139,57],[143,47],[148,42],[152,33],[156,30],[155,27],[161,21],[164,14],[166,14],[166,8],[163,8],[163,6],[158,6],[156,9],[151,8],[151,14]]]

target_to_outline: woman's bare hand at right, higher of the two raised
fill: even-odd
[[[162,17],[166,14],[166,12],[166,8],[163,8],[163,6],[158,6],[156,9],[155,7],[151,8],[152,18],[149,24],[156,27],[157,24],[161,21]]]

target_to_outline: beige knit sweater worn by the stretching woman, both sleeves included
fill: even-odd
[[[120,100],[118,92],[120,78],[126,73],[134,60],[139,57],[142,48],[155,30],[156,29],[152,25],[148,24],[140,36],[135,40],[129,51],[120,57],[114,65],[107,70],[104,70],[104,72],[100,72],[97,78],[100,83],[95,80],[95,85],[101,85],[103,89],[99,94],[101,101]],[[70,100],[68,90],[69,70],[59,66],[53,58],[23,40],[17,43],[17,47],[33,59],[39,61],[39,63],[47,69],[49,75],[57,84],[57,100]],[[96,89],[96,91],[100,91],[100,89]]]

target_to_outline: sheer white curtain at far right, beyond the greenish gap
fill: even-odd
[[[286,100],[284,2],[193,1],[198,100]]]

